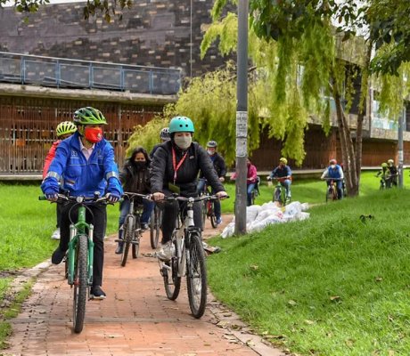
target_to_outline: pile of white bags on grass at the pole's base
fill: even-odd
[[[247,206],[246,208],[246,231],[261,231],[271,223],[287,223],[297,220],[305,220],[309,217],[307,203],[300,204],[299,201],[294,201],[283,208],[277,206],[274,202],[265,203],[262,206]],[[222,231],[222,238],[229,238],[234,235],[234,219],[232,223],[226,225]]]

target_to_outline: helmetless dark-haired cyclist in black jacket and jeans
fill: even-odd
[[[124,168],[119,174],[119,181],[122,183],[124,191],[140,194],[151,194],[150,183],[150,164],[151,158],[148,156],[146,150],[142,147],[138,147],[133,151],[131,157],[127,159]],[[141,215],[141,227],[143,230],[148,229],[148,221],[152,210],[154,208],[154,202],[143,198],[137,198],[136,201],[143,204],[143,214]],[[126,220],[126,216],[129,211],[129,199],[124,199],[120,206],[119,214],[119,239],[122,239],[122,224]],[[122,254],[124,244],[119,242],[116,254]]]

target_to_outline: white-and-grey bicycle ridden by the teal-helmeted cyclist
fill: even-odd
[[[198,198],[173,196],[164,199],[184,202],[186,207],[179,210],[176,229],[172,233],[171,241],[174,251],[171,259],[169,262],[158,260],[160,274],[164,279],[165,292],[170,300],[176,300],[181,288],[181,278],[186,277],[189,306],[196,319],[200,319],[205,312],[207,271],[201,230],[193,223],[193,203],[216,199],[216,196]]]

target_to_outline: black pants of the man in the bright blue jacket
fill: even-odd
[[[62,251],[66,251],[69,248],[70,218],[74,223],[77,222],[78,205],[76,205],[76,203],[68,203],[66,205],[61,206],[60,249]],[[87,205],[86,223],[92,223],[94,225],[93,285],[102,286],[102,266],[104,263],[104,235],[105,227],[107,224],[106,206],[101,204]]]

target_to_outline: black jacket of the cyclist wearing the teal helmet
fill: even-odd
[[[184,157],[185,151],[180,150],[171,141],[160,145],[158,150],[155,151],[151,164],[151,187],[153,193],[168,190],[168,183],[174,183],[172,147],[176,151],[176,165]],[[176,174],[176,186],[180,188],[181,195],[186,197],[196,196],[197,177],[200,170],[215,191],[225,191],[224,186],[219,182],[208,152],[197,142],[193,142],[188,149],[188,155],[184,163],[179,167]]]

